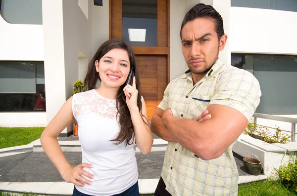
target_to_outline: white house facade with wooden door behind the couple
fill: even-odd
[[[166,85],[187,69],[180,26],[200,2],[223,17],[220,60],[259,80],[256,112],[297,118],[296,0],[0,0],[0,126],[46,126],[110,38],[133,47],[150,118]]]

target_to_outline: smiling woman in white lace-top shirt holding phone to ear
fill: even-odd
[[[133,72],[132,85],[127,84]],[[100,87],[96,88],[98,79]],[[45,153],[73,196],[139,196],[135,144],[151,150],[145,100],[132,48],[121,39],[105,41],[88,66],[86,92],[70,97],[41,136]],[[72,167],[57,142],[58,134],[74,119],[79,125],[82,164]]]

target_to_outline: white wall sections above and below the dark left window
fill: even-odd
[[[43,26],[7,23],[0,17],[0,61],[43,61]],[[45,126],[46,113],[0,113],[0,126]]]

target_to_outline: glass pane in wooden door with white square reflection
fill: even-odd
[[[122,39],[131,46],[157,46],[157,0],[122,3]]]

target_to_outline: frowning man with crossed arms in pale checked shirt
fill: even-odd
[[[259,82],[218,60],[227,35],[212,6],[188,11],[181,40],[189,69],[168,84],[151,120],[168,141],[155,196],[237,196],[232,147],[259,105]]]

